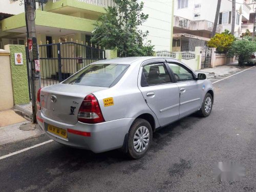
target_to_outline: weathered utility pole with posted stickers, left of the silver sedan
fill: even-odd
[[[38,47],[35,31],[35,0],[24,0],[25,4],[25,18],[27,27],[27,41],[28,41],[28,54],[29,69],[30,69],[30,84],[31,84],[31,96],[32,96],[32,111],[33,122],[36,123],[36,96],[37,91],[41,87],[40,83],[40,65],[38,65]]]

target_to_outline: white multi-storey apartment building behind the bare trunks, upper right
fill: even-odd
[[[212,0],[174,0],[173,49],[193,51],[209,40],[214,25],[217,2]],[[251,7],[244,0],[236,0],[236,24],[234,35],[242,35],[242,23],[250,20]],[[231,31],[232,0],[222,0],[217,33]],[[178,37],[180,38],[178,38]],[[176,38],[177,37],[177,38]],[[183,41],[183,44],[181,43]],[[183,46],[182,46],[183,45]],[[191,46],[189,46],[191,45]]]

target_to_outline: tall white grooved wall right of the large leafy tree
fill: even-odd
[[[155,51],[170,50],[172,0],[144,0],[143,2],[143,13],[148,14],[148,19],[142,24],[141,30],[149,32],[147,40],[152,41]]]

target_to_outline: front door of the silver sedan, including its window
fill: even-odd
[[[180,91],[180,116],[196,112],[202,105],[203,81],[196,80],[193,72],[181,63],[168,62]]]

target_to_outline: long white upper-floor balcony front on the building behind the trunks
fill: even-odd
[[[180,16],[174,16],[174,27],[190,31],[208,31],[212,32],[214,24],[208,20],[189,20]],[[222,32],[222,26],[217,25],[217,33]]]

